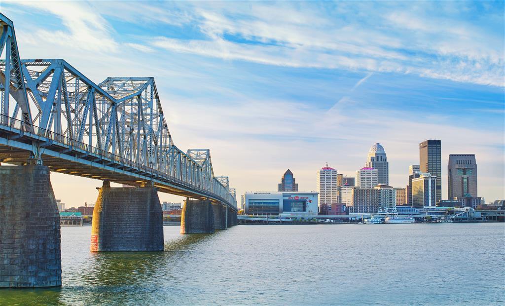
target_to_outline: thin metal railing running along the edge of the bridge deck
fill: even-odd
[[[208,190],[205,190],[203,188],[198,188],[198,187],[195,188],[194,185],[191,185],[188,182],[184,182],[176,177],[170,176],[167,173],[163,173],[163,172],[156,170],[154,168],[145,166],[143,164],[140,164],[140,163],[137,163],[137,162],[132,161],[130,159],[110,153],[108,151],[99,149],[97,147],[89,146],[88,144],[76,141],[76,140],[71,139],[65,135],[57,134],[51,130],[43,129],[43,128],[40,128],[36,125],[32,125],[31,128],[28,129],[28,128],[26,128],[26,125],[23,123],[23,121],[16,119],[16,118],[12,118],[12,117],[7,117],[6,123],[7,124],[2,124],[2,125],[10,126],[13,129],[19,130],[20,133],[28,134],[28,136],[31,134],[33,136],[46,138],[48,141],[52,141],[54,144],[60,143],[64,146],[70,147],[70,149],[79,149],[81,151],[87,152],[88,154],[99,157],[99,159],[115,162],[115,163],[120,164],[121,166],[126,166],[126,167],[129,167],[132,169],[141,170],[145,173],[149,173],[151,176],[153,176],[155,178],[161,178],[164,180],[172,181],[172,182],[176,183],[177,185],[186,187],[188,189],[189,188],[196,189],[200,193],[203,193],[203,194],[207,193],[207,194],[211,195],[211,193]],[[2,125],[0,125],[0,126],[2,126]],[[221,198],[216,195],[213,195],[213,197]],[[223,199],[223,198],[221,198],[220,200],[227,201],[227,199]],[[234,205],[235,203],[231,202],[230,204]]]

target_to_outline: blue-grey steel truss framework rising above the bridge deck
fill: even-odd
[[[20,60],[12,21],[0,14],[0,26],[0,124],[132,161],[236,207],[228,179],[214,177],[210,151],[174,145],[153,77],[108,77],[97,85],[63,59]]]

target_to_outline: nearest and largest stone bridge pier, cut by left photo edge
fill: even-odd
[[[49,168],[0,166],[0,287],[61,286],[60,237]]]

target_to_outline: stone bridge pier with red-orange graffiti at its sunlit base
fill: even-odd
[[[155,187],[97,188],[92,252],[163,251],[163,211]]]

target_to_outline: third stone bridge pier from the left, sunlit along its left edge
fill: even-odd
[[[189,200],[182,207],[181,234],[214,233],[214,209],[210,200]]]

